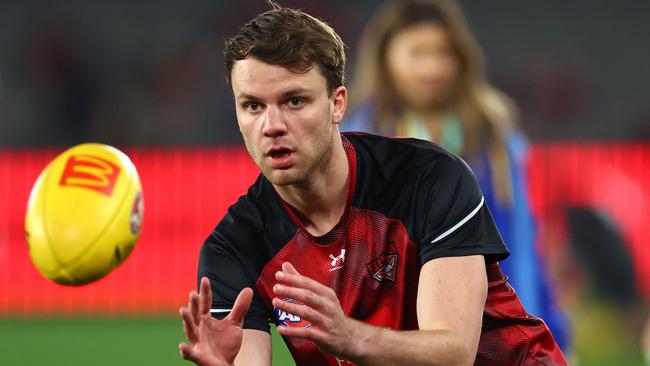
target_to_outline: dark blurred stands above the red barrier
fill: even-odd
[[[356,43],[377,1],[281,1]],[[533,141],[650,137],[650,2],[461,1]],[[0,146],[240,144],[223,39],[241,1],[0,2]],[[348,72],[348,80],[354,78]]]

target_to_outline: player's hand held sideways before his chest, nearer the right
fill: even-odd
[[[280,298],[290,297],[304,305],[273,298],[273,306],[299,316],[311,323],[306,328],[278,326],[278,333],[313,341],[321,352],[342,357],[354,357],[354,331],[357,321],[348,318],[334,290],[301,275],[290,263],[283,263],[275,274],[278,284],[273,291]]]

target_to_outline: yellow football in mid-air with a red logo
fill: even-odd
[[[95,281],[129,256],[143,214],[140,178],[129,157],[108,145],[77,145],[34,183],[25,218],[29,255],[54,282]]]

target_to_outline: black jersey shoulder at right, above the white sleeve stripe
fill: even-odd
[[[344,136],[356,154],[352,205],[400,219],[409,230],[430,208],[427,202],[436,192],[453,192],[459,182],[472,179],[462,159],[429,141],[359,133]]]

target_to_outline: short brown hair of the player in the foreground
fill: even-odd
[[[235,61],[250,56],[298,73],[309,72],[315,64],[330,92],[343,85],[345,45],[334,29],[302,11],[269,3],[273,9],[257,15],[226,41],[228,83]]]

